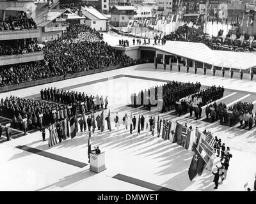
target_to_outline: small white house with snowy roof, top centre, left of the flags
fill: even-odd
[[[126,27],[129,20],[134,20],[137,15],[134,6],[113,6],[111,8],[111,24],[115,27]]]

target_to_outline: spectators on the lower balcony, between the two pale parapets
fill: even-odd
[[[35,40],[20,39],[0,41],[0,56],[1,55],[19,55],[29,52],[38,52],[41,48]]]

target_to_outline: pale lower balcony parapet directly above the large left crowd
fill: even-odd
[[[31,61],[40,61],[43,59],[44,59],[44,54],[42,51],[30,52],[27,54],[20,54],[20,55],[5,55],[5,56],[0,56],[0,66],[8,65],[8,64],[19,64],[19,63],[31,62]]]

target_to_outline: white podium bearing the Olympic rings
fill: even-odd
[[[100,154],[90,153],[90,170],[96,173],[106,170],[105,152]]]

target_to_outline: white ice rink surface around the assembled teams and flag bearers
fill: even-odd
[[[17,149],[17,145],[27,145],[54,155],[74,159],[81,163],[88,164],[87,143],[88,131],[77,133],[74,139],[68,138],[60,144],[49,148],[48,142],[42,142],[40,132],[31,133],[13,139],[10,142],[0,144],[0,190],[14,191],[152,191],[151,189],[130,184],[112,177],[118,173],[140,179],[151,184],[177,191],[213,191],[214,183],[211,171],[204,170],[201,177],[196,177],[192,182],[188,178],[188,168],[193,157],[193,152],[185,150],[176,143],[164,141],[157,136],[146,135],[142,131],[137,135],[122,125],[115,129],[114,117],[118,110],[120,120],[125,113],[145,115],[160,115],[161,118],[180,120],[199,129],[209,129],[214,136],[221,138],[226,147],[230,147],[233,158],[230,160],[227,180],[223,182],[217,191],[243,191],[243,186],[248,182],[252,187],[254,173],[256,171],[256,129],[251,131],[221,126],[218,122],[209,124],[203,120],[194,120],[188,115],[177,117],[168,113],[155,113],[131,108],[130,96],[141,89],[148,89],[154,85],[161,85],[166,80],[177,80],[180,82],[200,82],[202,85],[223,85],[225,96],[223,102],[227,105],[234,104],[237,100],[256,103],[256,82],[248,78],[238,80],[230,77],[221,78],[220,73],[216,77],[209,75],[197,75],[178,73],[173,68],[169,70],[155,70],[154,65],[134,66],[95,75],[73,78],[61,82],[54,82],[48,85],[30,87],[19,91],[0,94],[0,98],[15,95],[28,98],[38,98],[40,89],[45,87],[56,87],[77,92],[84,92],[88,95],[108,96],[109,110],[111,111],[111,126],[113,131],[105,130],[103,133],[95,131],[92,135],[92,147],[99,146],[106,152],[107,169],[101,173],[93,173],[89,165],[79,168],[70,164],[62,163],[49,157],[40,156]],[[119,77],[116,77],[119,76]],[[103,79],[104,80],[100,80]],[[99,81],[100,80],[100,81]],[[84,83],[88,84],[84,85]],[[89,83],[90,82],[90,83]],[[204,110],[203,110],[204,112]],[[254,111],[255,112],[255,109]],[[98,113],[97,113],[98,114]],[[104,116],[108,110],[104,111]],[[106,124],[105,124],[106,126]],[[49,138],[49,131],[46,131],[46,139]]]

